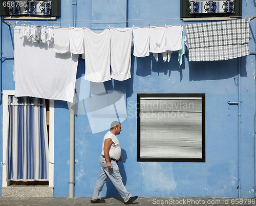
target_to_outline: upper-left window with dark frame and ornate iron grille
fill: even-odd
[[[10,17],[52,17],[60,15],[60,0],[1,0],[0,15]]]

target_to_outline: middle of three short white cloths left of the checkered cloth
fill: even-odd
[[[152,27],[150,28],[150,52],[163,53],[165,49],[165,27]]]

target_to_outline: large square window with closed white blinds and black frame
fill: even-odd
[[[205,94],[138,94],[137,161],[205,162]]]

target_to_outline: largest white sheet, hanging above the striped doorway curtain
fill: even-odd
[[[20,39],[19,30],[14,28],[15,96],[73,102],[78,55],[56,54],[53,42]]]

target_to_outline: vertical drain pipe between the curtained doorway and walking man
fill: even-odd
[[[76,26],[76,0],[72,3],[72,22]],[[73,100],[74,102],[74,100]],[[69,197],[75,196],[75,111],[74,104],[70,106],[70,162],[69,162]]]

